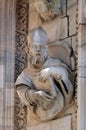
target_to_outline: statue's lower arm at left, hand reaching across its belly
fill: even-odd
[[[43,108],[47,109],[53,102],[53,98],[45,92],[30,89],[24,84],[17,85],[16,90],[21,101],[30,107],[43,106]]]

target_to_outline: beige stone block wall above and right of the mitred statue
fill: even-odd
[[[64,13],[49,22],[43,22],[29,1],[29,31],[42,26],[48,34],[49,45],[67,43],[72,52],[70,66],[74,72],[75,100],[77,100],[77,64],[78,64],[78,1],[62,1]],[[64,54],[63,54],[64,55]]]

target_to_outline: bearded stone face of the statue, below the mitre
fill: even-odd
[[[34,67],[40,68],[43,65],[48,56],[47,50],[47,45],[40,42],[32,43],[30,45],[30,62]]]

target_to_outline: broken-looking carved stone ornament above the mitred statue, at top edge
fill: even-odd
[[[62,0],[32,0],[40,18],[49,21],[62,14]]]

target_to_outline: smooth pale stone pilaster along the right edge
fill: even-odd
[[[86,130],[86,0],[79,0],[78,130]]]

